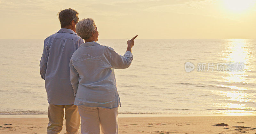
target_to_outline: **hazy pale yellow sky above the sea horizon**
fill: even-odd
[[[256,37],[255,0],[0,0],[0,39],[44,39],[66,8],[92,18],[99,39]]]

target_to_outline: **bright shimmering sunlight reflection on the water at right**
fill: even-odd
[[[250,83],[250,81],[246,78],[245,72],[249,71],[249,66],[251,65],[251,61],[249,58],[249,54],[252,53],[252,50],[248,50],[249,43],[246,42],[245,39],[229,39],[229,42],[225,46],[225,50],[222,51],[222,55],[225,56],[222,58],[223,61],[226,61],[227,63],[230,62],[242,62],[243,65],[243,71],[225,71],[224,73],[228,74],[229,76],[223,76],[224,82],[227,83]],[[244,91],[247,90],[247,88],[240,88],[237,86],[228,86],[228,85],[219,85],[221,87],[229,87],[233,89],[233,91],[215,91],[216,94],[219,94],[221,96],[225,96],[230,101],[237,101],[237,102],[250,102],[251,96]],[[234,91],[240,90],[240,91]],[[220,104],[221,105],[221,104]],[[227,109],[220,110],[220,113],[227,113],[230,115],[241,115],[244,113],[255,113],[255,110],[253,110],[252,107],[247,107],[245,104],[222,104],[223,107],[227,107]]]

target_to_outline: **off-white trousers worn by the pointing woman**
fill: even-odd
[[[106,109],[79,105],[82,134],[118,134],[118,107]]]

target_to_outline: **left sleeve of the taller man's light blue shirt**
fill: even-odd
[[[49,50],[47,48],[47,43],[45,43],[45,41],[44,41],[43,54],[42,54],[40,64],[39,64],[40,75],[44,80],[45,80],[45,73],[46,73],[46,68],[47,68],[48,56],[49,56]]]

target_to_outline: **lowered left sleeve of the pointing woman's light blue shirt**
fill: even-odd
[[[79,83],[79,75],[78,72],[76,71],[75,67],[73,66],[73,60],[71,58],[70,63],[69,63],[69,68],[70,68],[70,82],[74,90],[74,96],[76,96],[77,88],[78,88],[78,83]]]

